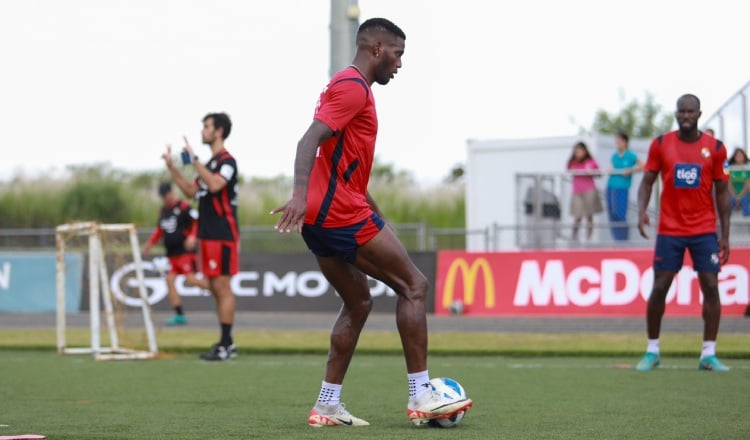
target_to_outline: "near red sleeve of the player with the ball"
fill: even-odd
[[[321,96],[315,119],[326,124],[334,133],[367,104],[368,91],[361,79],[345,78],[332,84]]]

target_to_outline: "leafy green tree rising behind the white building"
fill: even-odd
[[[633,99],[616,113],[598,110],[590,131],[604,134],[623,131],[631,137],[643,139],[670,131],[673,124],[672,113],[664,111],[662,106],[654,101],[654,96],[646,93],[643,102]]]

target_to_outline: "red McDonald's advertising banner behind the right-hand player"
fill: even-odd
[[[645,316],[653,250],[438,253],[435,314],[474,316]],[[719,273],[722,314],[748,304],[750,248],[733,248]],[[667,296],[668,316],[700,316],[698,277],[688,255]]]

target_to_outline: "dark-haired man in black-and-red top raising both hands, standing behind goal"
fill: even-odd
[[[185,139],[183,162],[195,166],[198,177],[182,177],[172,162],[171,148],[162,155],[177,186],[188,197],[198,199],[198,238],[201,270],[208,279],[209,290],[216,300],[216,314],[221,327],[219,342],[201,354],[209,361],[224,361],[237,356],[232,339],[235,298],[230,281],[239,270],[239,224],[237,223],[237,162],[224,147],[232,130],[225,113],[209,113],[203,118],[201,137],[211,147],[211,159],[205,165],[198,161]]]

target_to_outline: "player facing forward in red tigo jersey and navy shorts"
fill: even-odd
[[[729,260],[729,172],[724,144],[698,130],[700,100],[683,95],[677,100],[678,129],[651,142],[645,174],[638,189],[638,229],[648,238],[646,209],[656,176],[663,186],[658,235],[654,251],[654,286],[648,299],[648,347],[636,365],[650,371],[659,365],[659,332],[665,302],[674,275],[682,268],[685,250],[703,292],[703,349],[698,368],[729,371],[716,357],[716,337],[721,319],[718,275]],[[715,193],[715,196],[714,196]],[[715,197],[715,199],[714,199]],[[721,225],[716,235],[716,212]]]

